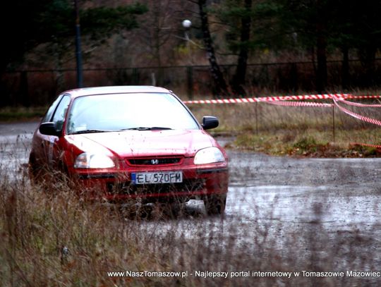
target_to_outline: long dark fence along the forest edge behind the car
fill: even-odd
[[[367,71],[361,61],[349,65],[351,87],[375,87],[381,83],[381,59]],[[233,78],[236,66],[222,65],[226,81]],[[327,62],[327,90],[341,90],[341,61]],[[99,85],[159,85],[174,90],[183,99],[205,98],[213,94],[209,66],[168,66],[143,68],[83,69],[85,87]],[[8,71],[1,76],[0,106],[44,105],[56,94],[76,86],[75,69]],[[265,63],[248,65],[246,87],[251,96],[261,92],[315,92],[315,63]]]

